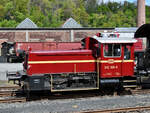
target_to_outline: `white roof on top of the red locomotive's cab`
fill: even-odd
[[[133,38],[119,38],[119,37],[98,37],[98,36],[93,36],[91,37],[95,40],[97,40],[100,43],[135,43],[137,40]]]

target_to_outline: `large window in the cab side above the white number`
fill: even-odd
[[[104,57],[120,57],[121,45],[120,44],[104,44]]]

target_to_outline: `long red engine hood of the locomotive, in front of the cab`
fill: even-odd
[[[76,61],[94,60],[91,50],[30,52],[28,61]],[[29,64],[27,73],[76,73],[95,72],[96,63],[42,63]],[[38,69],[38,70],[37,70]]]

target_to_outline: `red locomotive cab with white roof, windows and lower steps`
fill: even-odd
[[[128,84],[136,82],[134,77],[134,43],[135,39],[119,38],[115,35],[87,37],[83,40],[86,49],[92,49],[97,59],[97,72],[100,86],[103,84]],[[98,45],[98,46],[95,46]],[[97,51],[95,54],[95,51]],[[127,80],[126,80],[127,79]],[[128,80],[129,79],[129,80]],[[136,84],[136,83],[134,83]],[[124,87],[136,87],[126,85]]]

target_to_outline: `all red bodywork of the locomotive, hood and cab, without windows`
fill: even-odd
[[[30,51],[28,56],[27,74],[45,73],[76,73],[97,72],[100,78],[118,78],[133,76],[134,71],[134,45],[121,44],[120,57],[104,57],[103,44],[90,37],[85,40],[85,49],[66,51]],[[131,57],[124,60],[124,46],[131,46]],[[100,55],[97,49],[100,46]],[[62,61],[64,61],[62,63]],[[71,61],[71,62],[66,62]],[[78,61],[78,62],[74,62]],[[84,62],[83,62],[84,61]],[[93,62],[89,62],[93,61]],[[31,62],[36,62],[35,64]]]

